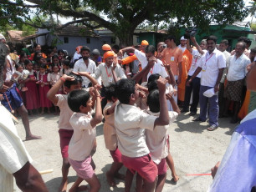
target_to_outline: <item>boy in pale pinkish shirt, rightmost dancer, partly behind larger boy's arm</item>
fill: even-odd
[[[170,124],[177,118],[177,115],[180,114],[180,109],[178,108],[175,100],[172,98],[172,94],[167,97],[172,104],[172,109],[174,111],[169,111]],[[159,103],[159,90],[152,90],[147,96],[147,104],[149,110],[146,111],[147,114],[159,116],[160,113],[160,103]],[[166,157],[168,155],[168,147],[166,146],[167,139],[167,129],[170,124],[165,126],[156,126],[156,128],[151,131],[146,129],[146,145],[151,153],[151,158],[157,166],[158,169],[158,180],[156,183],[156,192],[161,192],[166,181]]]

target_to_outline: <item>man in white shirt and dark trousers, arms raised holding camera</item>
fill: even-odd
[[[200,43],[200,46],[197,44],[196,38],[191,37],[192,43],[196,46],[197,49],[193,49],[190,46],[189,40],[187,40],[187,50],[192,53],[192,65],[187,73],[187,81],[192,77],[192,74],[196,71],[198,64],[200,63],[200,59],[204,53],[207,52],[206,50],[206,40],[203,39]],[[197,114],[197,105],[199,102],[199,90],[200,90],[200,81],[201,81],[201,72],[197,74],[196,78],[193,78],[192,83],[190,86],[186,86],[185,91],[185,100],[183,104],[182,113],[186,113],[189,111],[189,103],[192,94],[192,105],[190,108],[189,115]]]

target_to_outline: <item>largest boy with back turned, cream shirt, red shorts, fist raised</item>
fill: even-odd
[[[145,129],[153,131],[156,125],[169,124],[166,104],[165,78],[157,80],[159,88],[160,114],[159,117],[146,114],[136,108],[139,90],[132,79],[121,79],[117,82],[116,96],[119,99],[115,106],[115,129],[118,148],[122,154],[122,162],[131,171],[141,175],[143,191],[152,192],[156,186],[157,167],[151,160],[150,151],[146,146]],[[125,179],[126,184],[126,179]],[[126,187],[126,186],[125,186]]]

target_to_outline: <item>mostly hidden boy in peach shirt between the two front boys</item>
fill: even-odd
[[[106,173],[106,178],[110,186],[115,186],[115,178],[125,179],[125,175],[119,174],[118,171],[123,166],[121,160],[120,150],[117,146],[117,138],[115,131],[115,105],[118,99],[115,96],[115,84],[110,84],[109,87],[105,88],[105,98],[107,99],[107,104],[103,109],[103,114],[105,118],[105,123],[103,125],[105,147],[110,150],[110,154],[114,160],[110,170]]]

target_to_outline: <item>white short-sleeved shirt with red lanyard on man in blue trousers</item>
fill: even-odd
[[[217,48],[209,54],[202,55],[198,67],[202,68],[201,85],[214,87],[218,78],[219,68],[226,68],[226,58]]]

